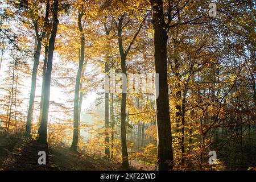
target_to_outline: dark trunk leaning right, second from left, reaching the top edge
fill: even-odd
[[[40,121],[40,131],[38,142],[47,144],[47,125],[48,125],[48,111],[49,111],[49,96],[51,89],[51,75],[52,75],[52,60],[53,60],[53,52],[55,46],[55,39],[57,34],[57,27],[59,24],[58,20],[58,9],[59,9],[59,1],[54,0],[53,2],[53,26],[51,37],[49,39],[49,51],[48,51],[48,60],[47,60],[47,69],[46,69],[46,80],[44,87],[44,102],[42,109],[42,119]]]

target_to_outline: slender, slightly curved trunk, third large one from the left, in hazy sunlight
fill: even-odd
[[[79,69],[76,75],[76,85],[75,85],[75,98],[74,98],[74,110],[73,110],[73,142],[71,144],[70,149],[73,151],[77,151],[77,144],[79,140],[79,93],[80,93],[80,81],[82,75],[82,67],[84,65],[84,51],[85,51],[85,37],[84,31],[82,28],[82,16],[83,10],[79,12],[78,17],[78,26],[81,33],[81,53],[80,53],[80,60],[79,60]]]

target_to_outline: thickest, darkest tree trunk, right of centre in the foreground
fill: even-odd
[[[158,130],[159,170],[174,168],[172,133],[167,80],[167,32],[164,22],[163,1],[151,0],[153,7],[155,72],[159,74],[159,96],[156,98],[156,123]]]

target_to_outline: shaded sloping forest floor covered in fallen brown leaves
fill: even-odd
[[[47,154],[46,165],[38,164],[38,152]],[[150,170],[150,166],[132,161],[131,170]],[[115,171],[123,170],[121,164],[105,159],[94,159],[65,146],[46,147],[35,140],[15,134],[0,133],[0,170],[4,171]]]

